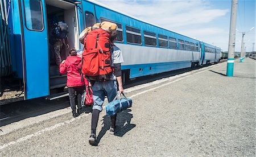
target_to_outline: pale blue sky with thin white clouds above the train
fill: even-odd
[[[168,30],[203,40],[228,51],[231,0],[98,0],[110,9],[122,11]],[[236,52],[241,51],[242,32],[246,51],[256,51],[255,0],[238,0]],[[249,32],[247,32],[249,31]]]

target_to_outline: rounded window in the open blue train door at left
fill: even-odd
[[[24,0],[26,27],[32,31],[43,31],[43,10],[41,0]]]

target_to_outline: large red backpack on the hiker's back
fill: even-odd
[[[107,81],[113,73],[110,53],[110,34],[98,28],[89,32],[82,52],[82,73],[90,80]]]

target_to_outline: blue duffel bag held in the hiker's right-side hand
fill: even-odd
[[[123,98],[121,98],[121,94]],[[119,97],[119,99],[118,99]],[[120,111],[131,108],[132,101],[130,98],[126,98],[125,94],[117,93],[117,96],[113,99],[112,102],[109,102],[106,105],[106,114],[109,116],[115,115]]]

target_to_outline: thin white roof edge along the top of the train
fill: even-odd
[[[105,7],[106,9],[113,10],[113,11],[115,11],[115,12],[117,12],[117,13],[120,13],[120,14],[123,14],[123,15],[126,15],[126,16],[129,16],[130,18],[133,18],[133,19],[135,19],[135,20],[139,20],[139,21],[141,21],[141,22],[144,22],[144,23],[147,23],[147,24],[151,24],[152,26],[162,28],[162,29],[164,29],[164,30],[166,30],[166,31],[171,31],[170,29],[167,29],[167,28],[164,28],[164,27],[162,27],[162,26],[159,26],[158,24],[154,24],[154,23],[147,22],[147,21],[142,20],[142,19],[139,19],[139,18],[137,18],[137,17],[135,17],[135,16],[133,16],[133,15],[129,15],[129,14],[127,14],[127,13],[124,13],[123,11],[120,11],[120,10],[118,10],[118,9],[110,9],[110,6],[105,5],[105,4],[103,4],[103,3],[100,3],[100,2],[97,2],[97,1],[94,1],[94,0],[87,0],[87,1],[92,2],[92,3],[94,3],[94,4],[96,4],[96,5],[99,5],[99,6]],[[111,1],[110,1],[110,2],[111,2]],[[175,32],[175,31],[171,31],[171,32],[174,32],[175,34],[179,34],[179,33]],[[179,34],[179,35],[182,35],[182,34]],[[191,38],[191,37],[189,37],[189,36],[186,36],[186,35],[182,35],[182,36],[185,36],[185,37],[187,37],[187,38],[193,39],[193,38]],[[193,40],[197,40],[198,42],[203,42],[203,40],[199,40],[199,39],[193,39]],[[204,43],[206,43],[206,42],[204,42]],[[207,43],[207,44],[208,44],[208,43]],[[209,44],[209,45],[214,46],[214,45],[212,45],[212,44]],[[217,46],[214,46],[214,47],[217,47]],[[218,47],[218,48],[220,48],[220,47]]]

